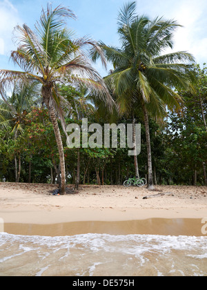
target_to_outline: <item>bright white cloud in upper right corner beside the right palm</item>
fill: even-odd
[[[207,62],[206,0],[137,0],[139,14],[175,19],[182,28],[175,32],[173,51],[188,51],[199,64]],[[172,52],[167,50],[166,53]]]

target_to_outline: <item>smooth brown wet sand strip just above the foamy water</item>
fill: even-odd
[[[200,219],[130,220],[122,222],[69,222],[60,224],[14,224],[4,226],[6,233],[14,235],[66,236],[85,233],[106,233],[110,235],[188,235],[207,236],[202,233]],[[207,228],[207,226],[206,226]]]

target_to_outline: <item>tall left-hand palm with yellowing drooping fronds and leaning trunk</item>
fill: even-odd
[[[0,70],[1,86],[10,84],[13,79],[25,82],[36,80],[41,84],[43,102],[49,110],[59,150],[61,194],[66,193],[66,170],[57,114],[65,133],[66,128],[62,110],[64,100],[58,93],[57,84],[63,81],[63,77],[67,77],[89,86],[106,99],[110,98],[104,82],[86,57],[85,48],[90,45],[99,50],[97,43],[86,37],[72,39],[72,32],[66,29],[68,18],[75,19],[75,14],[68,8],[58,6],[52,10],[52,6],[48,5],[47,10],[41,12],[35,32],[26,24],[17,26],[18,48],[12,51],[11,58],[22,71]]]

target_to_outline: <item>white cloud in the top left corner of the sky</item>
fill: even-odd
[[[0,1],[0,55],[8,55],[14,48],[12,31],[21,22],[18,11],[9,0]]]

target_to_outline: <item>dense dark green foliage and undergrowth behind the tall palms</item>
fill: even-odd
[[[180,112],[168,111],[164,122],[150,118],[152,168],[155,184],[204,185],[207,164],[207,68],[195,68],[199,77],[197,88],[180,92],[184,104]],[[106,122],[95,110],[92,98],[83,88],[60,86],[61,93],[70,101],[66,123],[81,126],[80,117],[88,117],[88,125]],[[75,106],[76,104],[76,106]],[[92,110],[94,108],[94,110]],[[2,113],[1,113],[2,114]],[[145,127],[140,112],[135,112],[141,123],[141,154],[138,156],[139,173],[147,175]],[[79,115],[79,116],[78,116]],[[14,121],[13,121],[14,122]],[[130,124],[132,119],[121,117],[117,124]],[[14,156],[21,155],[20,182],[58,182],[60,168],[55,134],[48,109],[31,106],[24,117],[23,132],[14,139],[12,126],[0,131],[0,180],[15,181]],[[59,122],[66,157],[66,180],[75,184],[77,178],[77,148],[69,149]],[[17,162],[18,163],[18,162]],[[81,148],[80,184],[123,184],[135,176],[134,158],[128,148]]]

